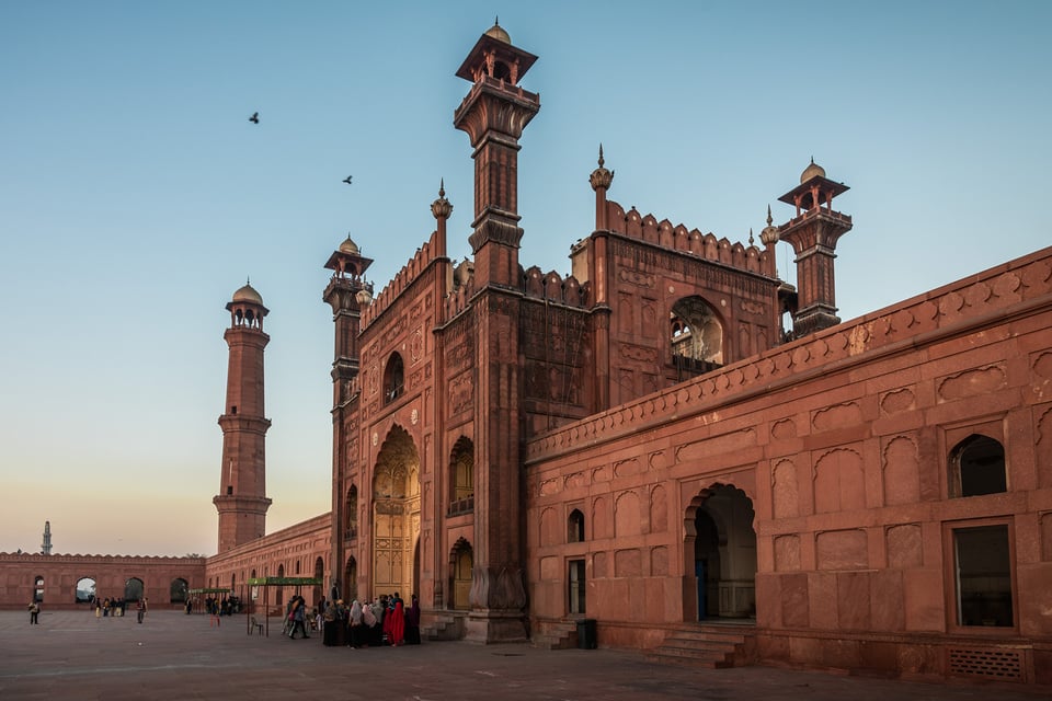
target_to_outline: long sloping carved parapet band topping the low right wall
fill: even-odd
[[[844,371],[881,354],[917,353],[947,336],[981,333],[1008,317],[1041,312],[1052,312],[1052,248],[562,426],[526,445],[526,463],[690,420],[725,402]],[[1052,353],[1041,358],[1052,358]],[[1036,367],[1049,367],[1041,358]],[[1007,377],[1007,371],[983,368],[980,375],[977,380],[948,378],[937,391],[960,391],[967,382],[982,387]]]

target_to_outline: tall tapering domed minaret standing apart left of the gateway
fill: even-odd
[[[227,304],[230,327],[222,337],[230,347],[227,366],[227,405],[222,428],[222,471],[219,494],[211,499],[219,512],[219,552],[261,538],[266,532],[266,453],[271,422],[263,416],[263,333],[267,314],[263,298],[245,285]]]

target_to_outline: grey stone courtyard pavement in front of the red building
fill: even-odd
[[[693,669],[634,652],[424,642],[325,647],[321,636],[249,635],[244,617],[152,611],[95,619],[83,611],[0,612],[0,699],[127,701],[495,701],[694,699],[713,701],[1033,701],[1048,689],[922,683],[771,667]]]

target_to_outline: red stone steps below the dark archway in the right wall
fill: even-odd
[[[682,628],[648,651],[647,659],[709,669],[746,665],[755,654],[754,630],[742,624]]]

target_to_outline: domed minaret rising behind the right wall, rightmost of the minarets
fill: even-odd
[[[833,211],[833,198],[847,191],[844,183],[826,179],[825,170],[811,159],[800,185],[778,198],[797,208],[797,215],[778,227],[778,237],[797,254],[799,301],[792,326],[798,338],[841,323],[833,261],[836,241],[851,230],[851,218]]]

